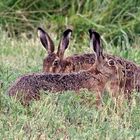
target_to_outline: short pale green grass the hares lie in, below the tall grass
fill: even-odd
[[[86,33],[85,33],[86,34]],[[58,44],[58,33],[53,33]],[[124,101],[121,107],[115,106],[107,93],[103,97],[104,105],[96,109],[94,94],[81,91],[80,95],[72,91],[63,94],[42,93],[41,100],[32,102],[29,108],[9,99],[7,88],[18,76],[42,70],[42,59],[46,55],[36,34],[28,39],[8,38],[0,31],[0,139],[140,139],[140,95],[133,94],[132,103]],[[60,36],[60,34],[58,35]],[[104,51],[140,62],[139,40],[126,49],[114,47],[111,41],[106,43]],[[75,42],[72,37],[66,55],[73,52],[92,52],[85,39]],[[79,49],[80,48],[80,49]],[[78,51],[79,50],[79,51]]]

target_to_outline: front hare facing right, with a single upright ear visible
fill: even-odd
[[[87,89],[96,93],[96,105],[101,104],[102,94],[106,84],[111,80],[118,79],[122,69],[115,59],[108,59],[103,55],[100,46],[100,35],[90,29],[90,46],[95,53],[95,63],[88,70],[62,73],[33,73],[19,77],[9,88],[8,95],[16,96],[23,105],[29,105],[32,99],[40,98],[40,91],[62,92]]]

